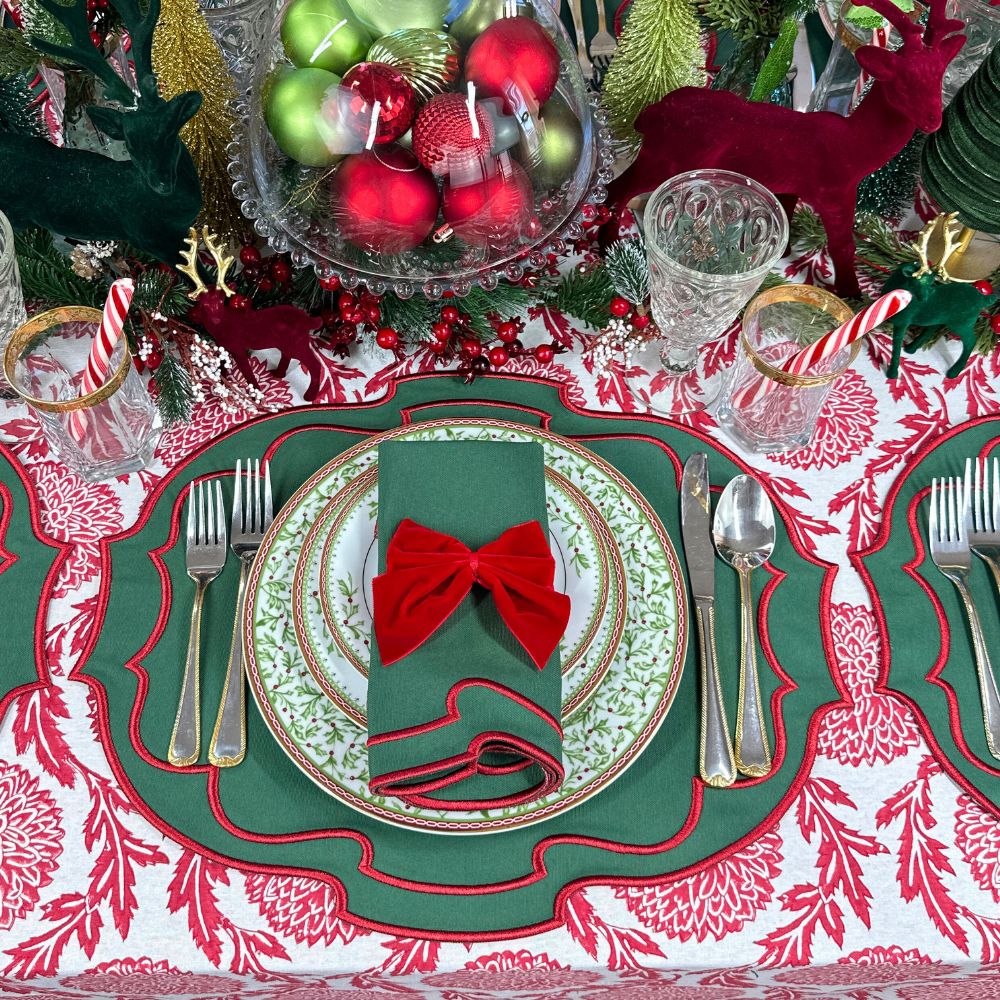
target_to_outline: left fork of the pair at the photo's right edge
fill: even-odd
[[[983,626],[969,590],[972,555],[969,551],[969,498],[959,477],[931,481],[931,515],[928,535],[931,558],[948,577],[965,606],[972,632],[972,647],[976,655],[976,674],[979,677],[979,697],[983,706],[983,723],[986,727],[986,745],[990,753],[1000,760],[1000,694],[990,666],[990,657],[983,636]]]

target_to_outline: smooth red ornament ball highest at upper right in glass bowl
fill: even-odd
[[[480,97],[500,97],[504,113],[524,110],[526,99],[544,104],[559,79],[559,50],[549,33],[528,17],[494,21],[465,57],[465,78]]]

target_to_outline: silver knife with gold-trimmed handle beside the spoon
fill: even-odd
[[[695,452],[684,464],[681,480],[681,533],[687,559],[694,617],[698,623],[701,662],[702,781],[727,788],[736,780],[736,761],[729,724],[722,703],[722,681],[715,656],[715,548],[712,545],[712,501],[708,484],[708,455]]]

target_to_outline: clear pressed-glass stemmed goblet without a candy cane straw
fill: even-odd
[[[729,170],[692,170],[656,189],[643,230],[660,334],[635,356],[651,376],[644,395],[654,412],[702,409],[717,387],[697,373],[698,348],[721,337],[760,288],[785,251],[788,219],[757,181]],[[693,380],[681,379],[689,374]],[[683,390],[670,385],[682,381]]]

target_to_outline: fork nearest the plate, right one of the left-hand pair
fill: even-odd
[[[219,714],[208,750],[208,762],[216,767],[234,767],[247,752],[246,685],[243,678],[243,602],[246,596],[247,577],[257,550],[264,541],[264,533],[271,527],[274,511],[271,504],[271,465],[264,463],[261,476],[260,462],[247,459],[247,474],[243,476],[242,463],[236,463],[233,480],[233,523],[230,544],[240,561],[240,588],[236,594],[236,618],[233,623],[233,642],[226,667],[226,685],[219,704]]]

